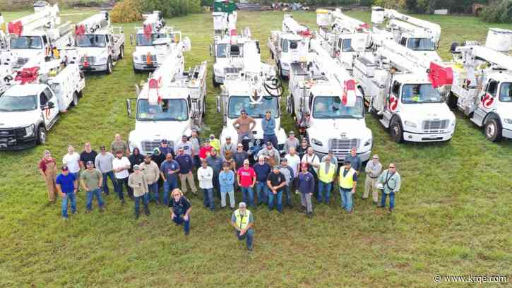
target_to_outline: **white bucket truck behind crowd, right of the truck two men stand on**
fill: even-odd
[[[364,103],[355,80],[331,55],[320,40],[311,40],[311,61],[293,66],[290,71],[290,96],[287,112],[305,130],[311,147],[318,156],[333,150],[343,162],[352,148],[367,161],[373,138],[364,121]],[[304,119],[309,124],[302,125]]]

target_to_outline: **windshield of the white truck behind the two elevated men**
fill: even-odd
[[[231,96],[228,102],[228,117],[238,118],[240,111],[244,110],[252,118],[263,118],[265,112],[270,110],[274,118],[279,117],[278,97],[263,97],[260,104],[251,104],[249,96]]]

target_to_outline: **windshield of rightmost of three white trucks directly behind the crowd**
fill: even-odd
[[[355,105],[348,107],[343,105],[338,96],[317,96],[313,104],[313,118],[338,119],[338,118],[363,118],[363,100],[357,97]]]

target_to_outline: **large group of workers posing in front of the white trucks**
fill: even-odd
[[[241,117],[247,119],[249,116],[242,114]],[[268,117],[266,121],[269,121]],[[242,121],[242,125],[249,125],[247,131],[254,128],[251,119]],[[203,205],[212,211],[215,210],[215,197],[220,198],[220,208],[227,207],[229,198],[230,208],[234,210],[235,191],[239,191],[243,202],[239,203],[239,209],[234,210],[231,222],[237,237],[246,239],[249,250],[254,237],[254,215],[248,206],[255,208],[264,204],[269,210],[276,208],[282,213],[283,203],[292,208],[293,193],[298,193],[302,211],[313,217],[312,198],[316,196],[316,203],[331,203],[331,191],[337,178],[341,207],[347,212],[353,210],[353,196],[362,169],[356,148],[352,148],[338,169],[338,159],[333,150],[320,159],[308,140],[299,141],[293,131],[285,142],[283,155],[278,150],[277,140],[271,136],[266,138],[264,148],[252,155],[244,149],[244,136],[239,136],[237,143],[228,136],[221,145],[215,135],[201,141],[197,131],[191,134],[184,135],[174,147],[168,145],[167,140],[162,140],[150,155],[142,155],[138,148],[130,151],[119,134],[109,149],[105,145],[100,146],[99,153],[91,148],[90,143],[85,143],[80,154],[69,145],[58,175],[59,165],[46,150],[39,169],[47,184],[49,203],[55,203],[56,197],[61,196],[61,215],[68,219],[68,206],[71,205],[73,214],[78,212],[76,194],[85,191],[85,212],[93,209],[94,198],[97,198],[98,208],[103,212],[103,197],[110,193],[107,184],[110,179],[122,204],[126,203],[124,190],[126,196],[133,200],[136,218],[140,215],[141,202],[145,215],[150,215],[150,202],[165,205],[172,221],[183,224],[185,234],[189,234],[191,201],[186,198],[189,191],[197,196],[198,189],[201,189]],[[389,164],[389,169],[382,171],[382,168],[379,156],[374,155],[364,169],[366,180],[362,198],[369,198],[371,192],[374,203],[384,208],[389,196],[389,210],[393,211],[395,193],[400,190],[400,174],[393,163]],[[382,191],[380,203],[379,190]]]

